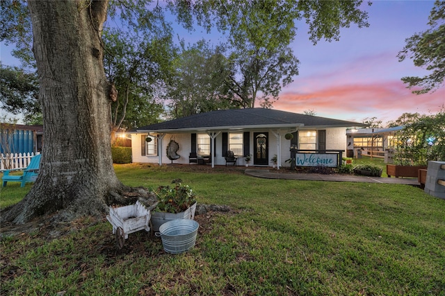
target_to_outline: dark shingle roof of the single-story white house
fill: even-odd
[[[328,119],[280,110],[251,108],[218,110],[186,116],[171,121],[147,125],[138,130],[218,130],[229,128],[295,128],[299,125],[314,128],[363,126],[362,123]]]

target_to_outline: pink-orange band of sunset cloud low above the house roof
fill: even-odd
[[[361,122],[377,117],[385,124],[405,112],[428,114],[445,105],[445,89],[415,95],[400,80],[343,84],[295,91],[286,89],[274,108],[302,113],[314,110],[318,116]]]

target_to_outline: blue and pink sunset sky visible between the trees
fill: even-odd
[[[414,67],[412,60],[398,62],[396,57],[406,38],[428,28],[433,5],[434,1],[364,3],[369,28],[343,28],[339,42],[321,41],[315,46],[309,41],[304,21],[298,23],[293,49],[300,60],[300,75],[282,89],[274,109],[296,113],[314,110],[317,116],[357,122],[376,117],[383,125],[404,112],[438,112],[445,104],[445,87],[432,94],[412,94],[401,78],[423,76],[426,71]],[[180,35],[188,42],[209,39],[199,29]],[[0,60],[19,66],[4,44]]]

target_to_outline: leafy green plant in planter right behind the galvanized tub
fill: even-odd
[[[157,232],[159,227],[170,220],[191,219],[195,217],[195,193],[188,185],[181,184],[181,179],[172,180],[175,186],[159,186],[154,192],[158,203],[152,211],[150,222]]]

